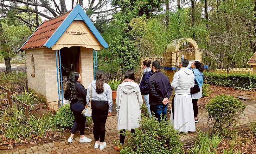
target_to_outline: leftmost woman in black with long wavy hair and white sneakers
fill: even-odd
[[[67,88],[64,94],[64,98],[71,101],[70,109],[75,116],[75,122],[71,129],[71,134],[67,140],[68,143],[73,142],[74,134],[79,128],[80,139],[79,142],[87,143],[91,142],[92,139],[85,137],[85,117],[81,114],[81,112],[85,109],[86,105],[86,89],[80,84],[82,80],[82,76],[78,72],[72,72],[69,75]]]

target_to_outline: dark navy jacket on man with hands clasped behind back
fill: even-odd
[[[162,105],[163,98],[170,98],[172,86],[169,78],[161,71],[156,71],[149,78],[149,104]]]

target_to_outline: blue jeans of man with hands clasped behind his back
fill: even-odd
[[[154,116],[158,119],[158,121],[160,121],[164,116],[166,116],[164,118],[164,120],[167,121],[167,106],[168,106],[168,104],[166,104],[166,105],[164,105],[164,104],[150,105],[151,114],[154,113]],[[161,114],[162,114],[162,117],[161,117]]]

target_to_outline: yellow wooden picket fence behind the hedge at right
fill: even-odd
[[[217,74],[227,74],[227,69],[215,69],[215,73]],[[228,72],[228,74],[251,74],[256,75],[256,72],[253,72],[253,68],[231,68]]]

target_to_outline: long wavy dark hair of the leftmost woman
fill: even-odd
[[[75,82],[79,78],[78,72],[72,72],[69,75],[68,82],[67,82],[67,88],[64,93],[64,98],[70,101],[78,99],[77,92],[75,90]]]

